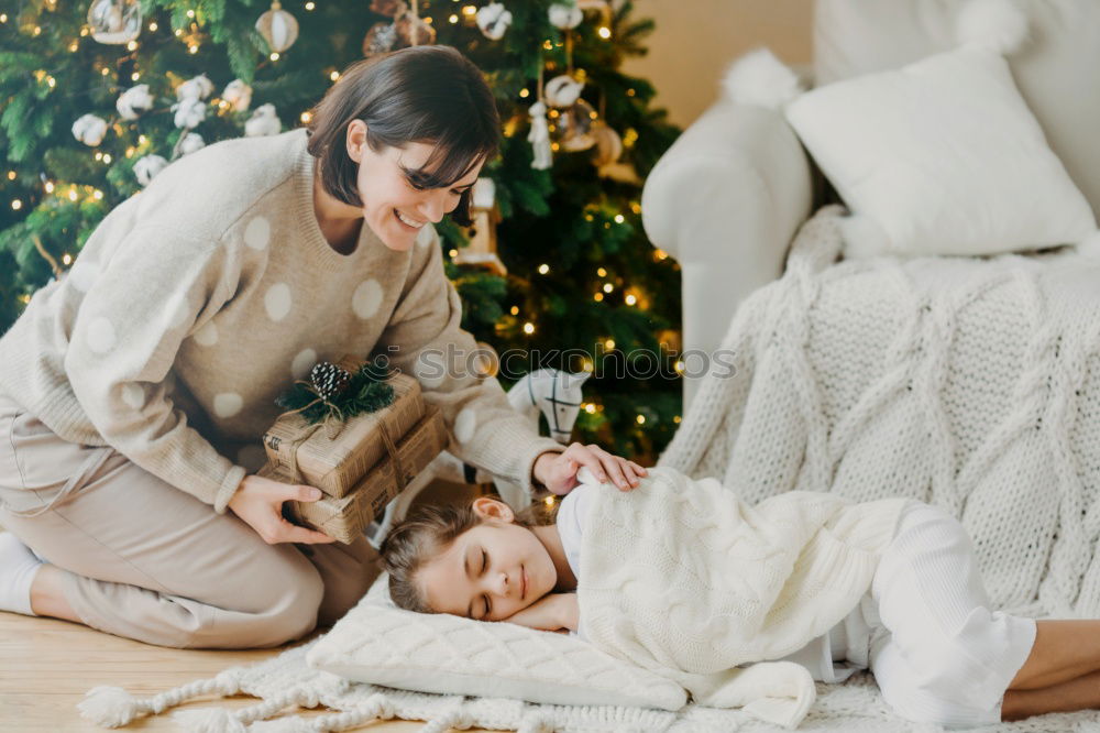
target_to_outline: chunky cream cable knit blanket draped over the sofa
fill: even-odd
[[[791,490],[950,510],[992,601],[1100,616],[1100,259],[832,263],[833,206],[750,294],[659,466],[755,503]]]

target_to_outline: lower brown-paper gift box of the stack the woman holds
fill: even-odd
[[[397,444],[398,461],[386,456],[345,496],[321,496],[316,502],[287,501],[283,504],[283,516],[350,545],[446,447],[443,415],[439,407],[429,405],[424,418]],[[296,483],[285,469],[270,462],[257,475]]]

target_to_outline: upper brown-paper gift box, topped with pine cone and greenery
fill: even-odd
[[[344,357],[337,363],[355,372],[363,362],[355,357]],[[386,382],[394,387],[393,404],[352,417],[331,440],[323,426],[315,429],[304,441],[297,442],[296,456],[296,440],[311,426],[300,414],[280,417],[264,434],[267,460],[290,475],[297,458],[300,478],[293,483],[317,486],[337,499],[344,496],[387,452],[382,426],[396,444],[425,415],[424,396],[416,379],[395,372]]]

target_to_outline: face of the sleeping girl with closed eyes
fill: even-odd
[[[425,562],[416,581],[435,611],[501,621],[552,591],[558,572],[535,533],[513,522],[507,504],[483,496],[473,507],[482,524]]]

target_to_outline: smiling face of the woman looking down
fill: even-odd
[[[365,122],[353,120],[348,125],[348,154],[359,163],[363,219],[392,250],[408,250],[426,223],[438,223],[444,214],[454,210],[461,194],[477,180],[484,163],[479,162],[463,179],[447,188],[417,190],[402,168],[420,169],[431,151],[427,143],[413,142],[375,152],[366,143]]]

